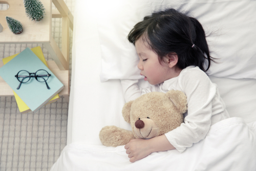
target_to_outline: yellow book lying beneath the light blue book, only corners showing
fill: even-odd
[[[45,59],[45,56],[44,54],[42,53],[42,50],[41,48],[38,46],[38,47],[35,47],[35,48],[32,48],[31,49],[32,52],[34,52],[34,54],[42,61],[45,63],[45,65],[48,67],[47,63],[46,63],[46,59]],[[6,58],[3,58],[3,62],[4,62],[4,65],[9,62],[11,59],[13,59],[15,56],[17,56],[19,53],[15,54],[15,55],[12,55],[12,56],[9,56],[9,57],[6,57]],[[49,68],[49,67],[48,67]],[[13,91],[14,93],[14,97],[16,99],[16,102],[17,102],[17,105],[18,105],[18,109],[19,109],[19,112],[22,113],[22,114],[25,114],[25,113],[28,113],[30,112],[31,110],[29,109],[29,107],[27,106],[27,104]],[[54,101],[57,101],[59,99],[59,95],[56,94],[48,103],[46,104],[49,104],[49,103],[52,103]]]

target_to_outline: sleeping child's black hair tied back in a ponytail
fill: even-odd
[[[202,25],[196,18],[188,17],[175,9],[166,9],[145,16],[142,22],[134,26],[127,38],[134,45],[142,38],[143,42],[158,54],[160,63],[165,55],[175,52],[178,55],[176,66],[179,69],[198,66],[206,72],[210,67],[212,57]],[[206,70],[205,59],[208,60]]]

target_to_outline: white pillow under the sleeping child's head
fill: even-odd
[[[256,1],[98,0],[97,25],[101,48],[101,82],[141,79],[138,56],[127,35],[145,15],[165,8],[188,11],[199,20],[207,37],[212,62],[208,75],[256,78]]]

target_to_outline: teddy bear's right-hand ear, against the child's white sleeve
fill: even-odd
[[[170,90],[165,94],[176,106],[180,113],[187,111],[187,97],[186,95],[178,90]]]

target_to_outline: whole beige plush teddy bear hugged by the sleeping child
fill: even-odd
[[[132,131],[105,126],[99,133],[105,146],[120,146],[135,138],[150,139],[176,129],[187,111],[186,95],[178,90],[146,93],[124,104],[122,116]]]

